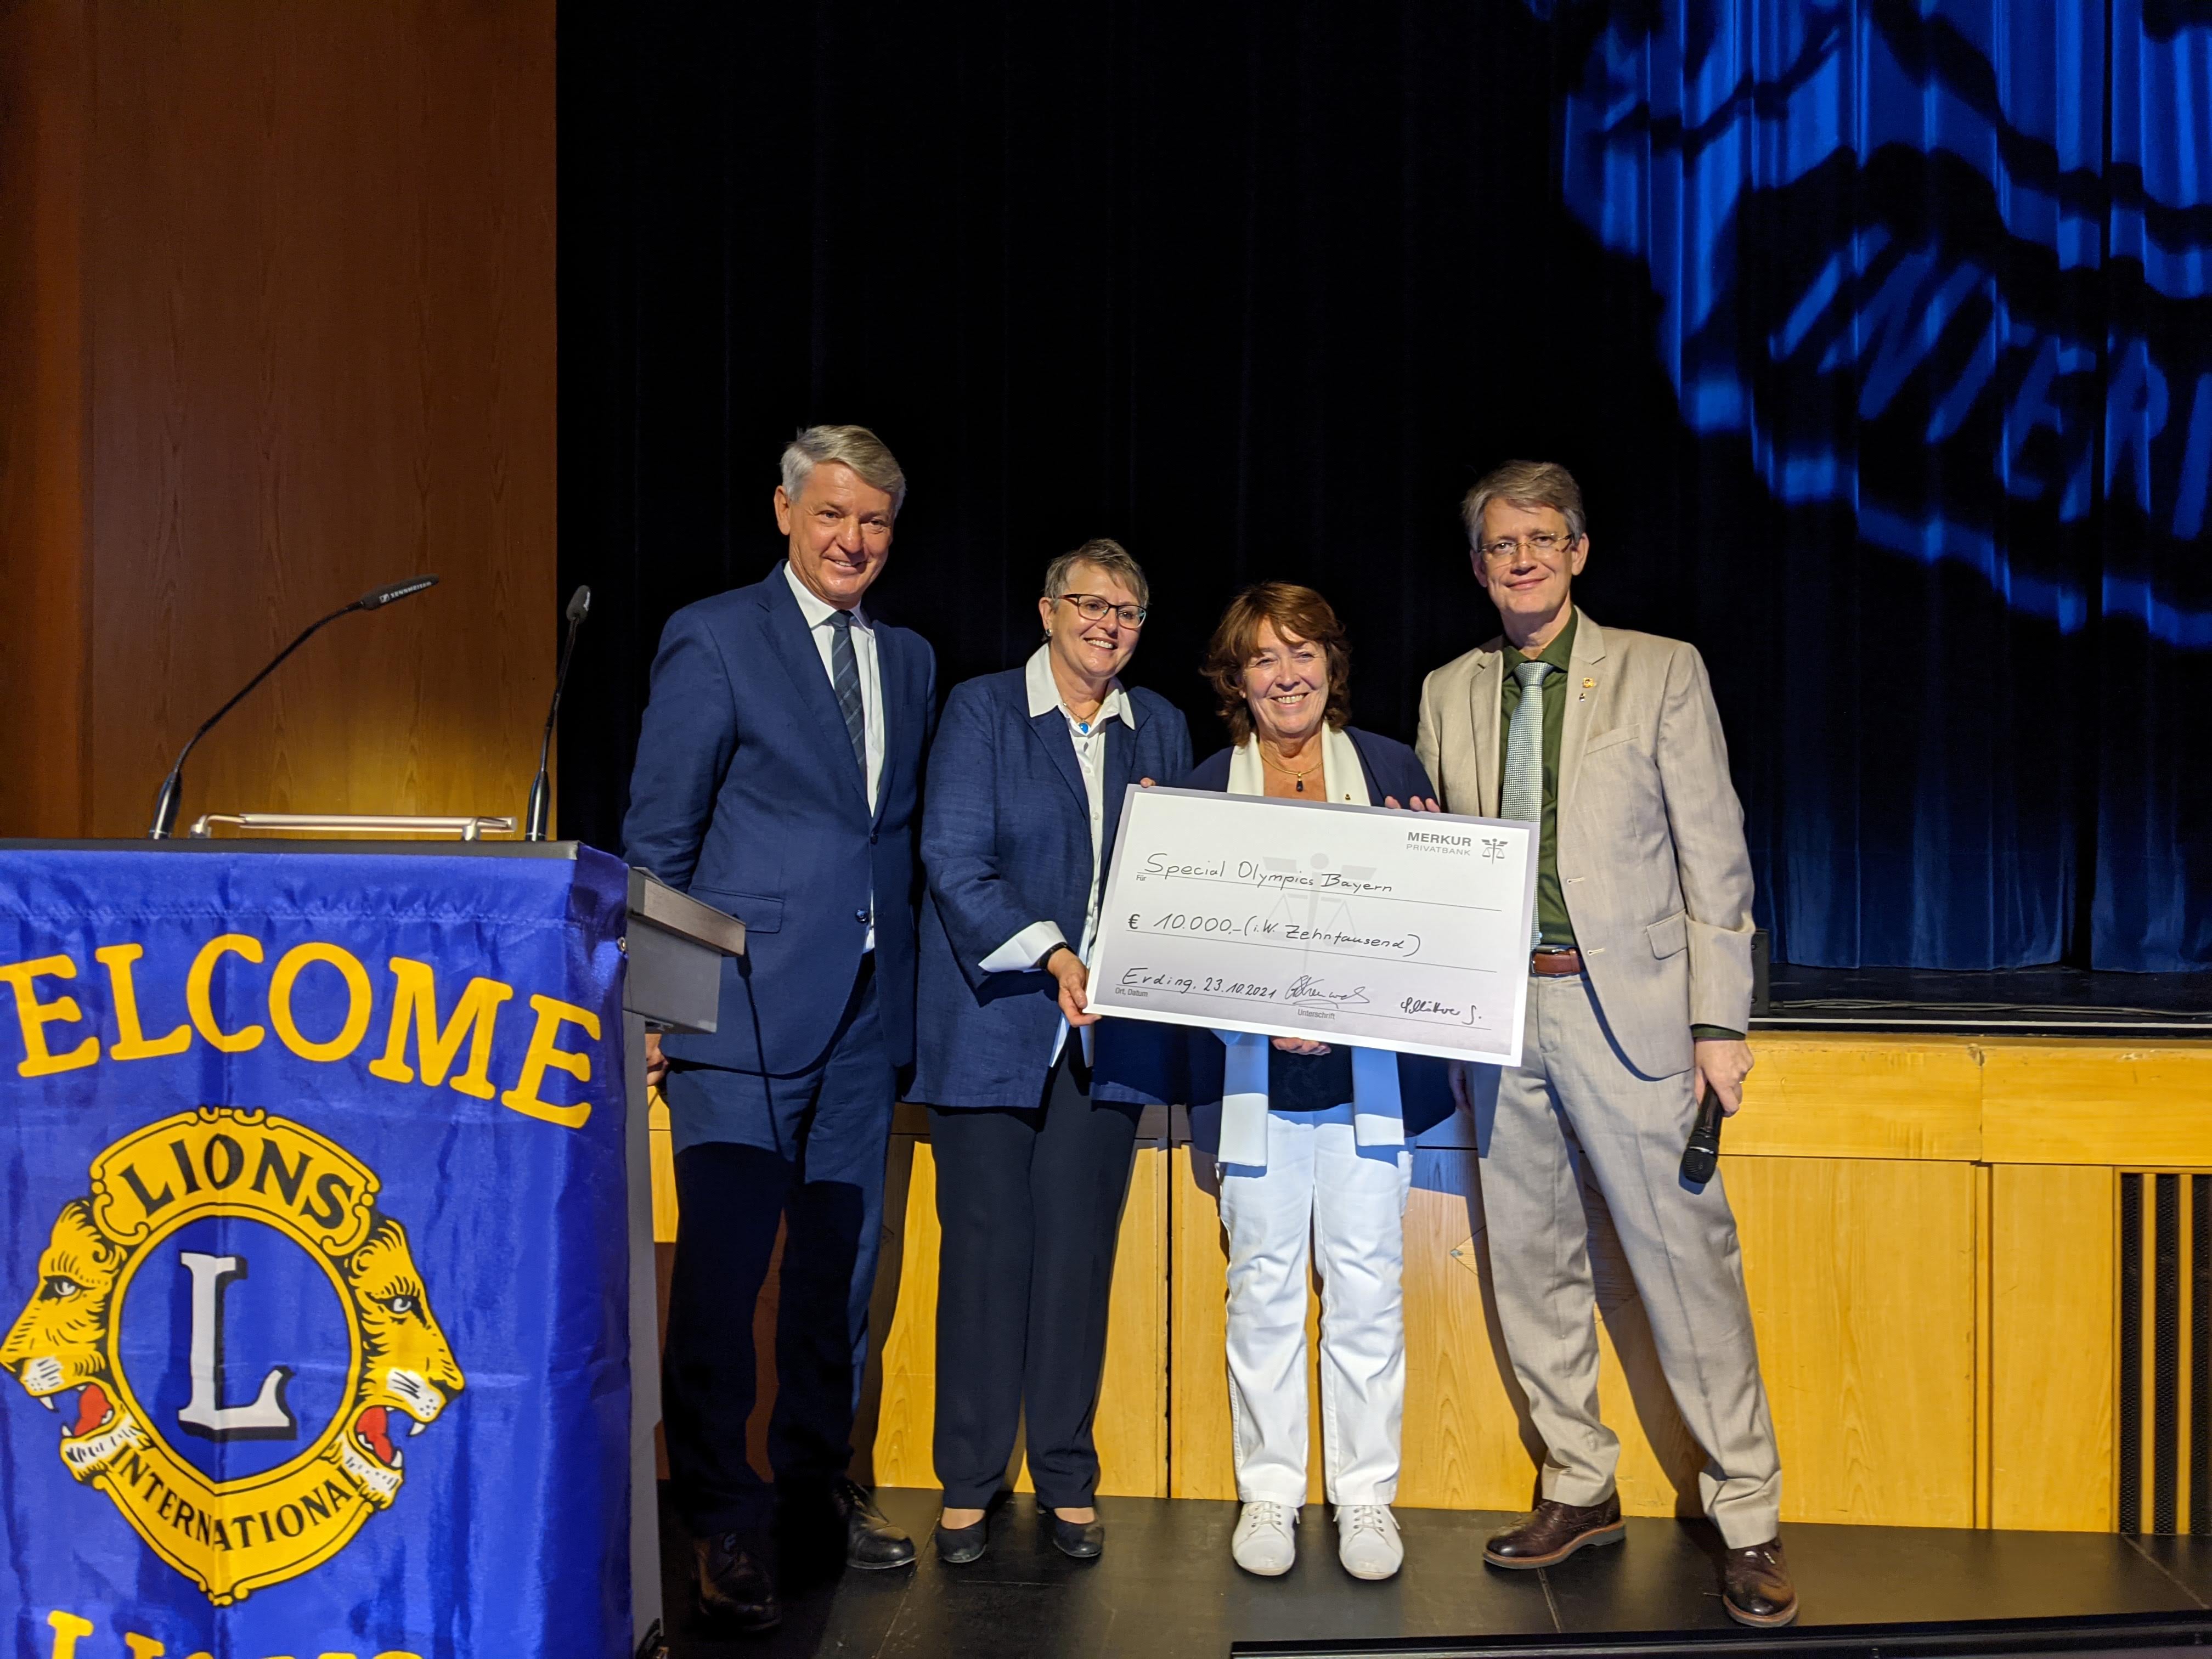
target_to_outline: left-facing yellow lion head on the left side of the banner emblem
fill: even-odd
[[[122,1267],[124,1252],[93,1225],[93,1208],[84,1199],[62,1206],[38,1259],[38,1290],[0,1343],[0,1367],[13,1371],[24,1394],[49,1411],[60,1409],[58,1400],[69,1402],[62,1458],[77,1480],[91,1480],[142,1438],[104,1352]]]

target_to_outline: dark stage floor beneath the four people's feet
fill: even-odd
[[[1230,1562],[1237,1504],[1102,1498],[1106,1555],[1079,1564],[1051,1548],[1020,1495],[993,1515],[984,1559],[942,1566],[927,1544],[938,1493],[883,1489],[878,1500],[922,1540],[920,1562],[792,1586],[783,1628],[752,1639],[699,1630],[681,1577],[690,1544],[664,1504],[675,1659],[1223,1659],[1232,1641],[1736,1630],[1721,1610],[1719,1540],[1701,1522],[1630,1520],[1619,1546],[1500,1573],[1480,1551],[1502,1517],[1402,1509],[1405,1571],[1360,1584],[1336,1564],[1336,1528],[1318,1504],[1301,1515],[1298,1564],[1256,1579]],[[1785,1526],[1783,1544],[1801,1626],[2212,1608],[2212,1540]]]

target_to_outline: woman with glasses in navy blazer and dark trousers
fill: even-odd
[[[1086,960],[1133,783],[1190,770],[1190,728],[1119,681],[1144,571],[1084,542],[1044,573],[1044,644],[953,688],[922,803],[914,1097],[938,1170],[936,1467],[945,1562],[984,1553],[1026,1416],[1053,1542],[1104,1546],[1091,1422],[1137,1117],[1179,1088],[1168,1026],[1099,1022]]]

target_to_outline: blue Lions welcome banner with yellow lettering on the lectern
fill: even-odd
[[[628,1650],[624,883],[0,852],[9,1652]]]

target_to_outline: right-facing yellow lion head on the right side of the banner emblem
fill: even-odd
[[[343,1279],[361,1318],[361,1385],[347,1407],[336,1462],[363,1498],[385,1509],[398,1495],[407,1464],[398,1420],[409,1420],[409,1436],[422,1433],[460,1394],[465,1378],[429,1312],[422,1274],[398,1221],[378,1217],[347,1256]]]

